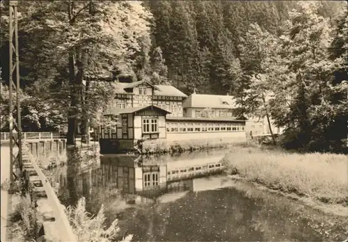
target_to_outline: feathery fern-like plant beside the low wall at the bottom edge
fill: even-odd
[[[86,211],[84,197],[77,202],[76,207],[68,207],[67,214],[78,241],[114,241],[118,237],[120,231],[118,220],[113,220],[111,226],[106,228],[104,207],[101,207],[97,216],[90,216]],[[122,241],[131,241],[132,237],[132,235],[128,235]]]

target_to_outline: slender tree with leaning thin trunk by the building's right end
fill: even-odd
[[[241,94],[243,99],[237,99],[237,104],[242,105],[246,115],[257,118],[267,118],[269,130],[274,144],[276,140],[271,129],[271,113],[267,97],[272,95],[271,78],[276,68],[274,50],[277,38],[268,31],[262,30],[258,24],[251,24],[245,38],[242,38],[240,58],[244,74],[248,80],[243,86]],[[241,88],[242,85],[239,85]],[[239,109],[240,110],[240,109]],[[238,109],[235,112],[239,111]],[[241,113],[237,113],[237,115]]]

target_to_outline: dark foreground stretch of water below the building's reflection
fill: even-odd
[[[141,216],[133,213],[136,218],[125,215],[127,227],[136,225],[134,239],[140,241],[338,241],[347,236],[347,223],[329,226],[332,217],[298,202],[250,186],[238,188],[156,204]]]

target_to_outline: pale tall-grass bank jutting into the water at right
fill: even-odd
[[[296,154],[237,145],[223,158],[228,175],[347,216],[348,161],[342,154]]]

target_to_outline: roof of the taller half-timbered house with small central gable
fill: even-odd
[[[113,83],[113,86],[115,87],[116,93],[118,94],[130,94],[131,92],[127,90],[128,88],[135,88],[142,83],[147,83],[149,86],[154,87],[154,94],[158,96],[187,97],[186,94],[171,85],[152,85],[151,83],[148,83],[148,81],[136,81],[132,83],[117,82]]]

